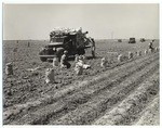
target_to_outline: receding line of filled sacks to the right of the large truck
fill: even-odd
[[[159,51],[159,48],[154,48],[154,49],[146,49],[144,50],[144,54],[149,54],[149,53],[152,53],[152,52],[158,52]],[[127,54],[127,59],[133,59],[134,56],[141,56],[143,55],[143,52],[141,51],[137,51],[135,53],[133,52],[129,52]],[[122,62],[124,60],[124,55],[123,54],[119,54],[118,57],[117,57],[118,62]],[[102,67],[107,67],[108,66],[108,61],[106,57],[103,57],[102,61],[100,61],[100,66]]]

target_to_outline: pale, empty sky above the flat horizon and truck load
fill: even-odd
[[[159,38],[159,5],[3,5],[3,39],[49,39],[55,27],[82,27],[95,39]]]

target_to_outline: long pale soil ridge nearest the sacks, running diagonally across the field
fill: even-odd
[[[86,94],[85,97],[83,97],[83,99],[85,98],[90,98],[93,93],[97,92],[97,91],[102,91],[104,89],[106,89],[107,87],[110,88],[111,86],[110,85],[113,85],[114,82],[120,82],[120,79],[123,79],[124,77],[131,75],[134,71],[132,71],[131,73],[127,73],[125,74],[125,71],[129,69],[129,68],[133,68],[134,66],[136,66],[137,63],[139,63],[138,66],[141,66],[144,65],[145,63],[144,62],[147,62],[148,60],[153,60],[154,56],[157,54],[152,55],[152,56],[147,56],[147,57],[144,57],[144,59],[139,59],[139,60],[135,60],[134,62],[130,62],[125,65],[121,65],[117,68],[113,68],[113,69],[110,69],[110,71],[107,71],[104,75],[95,78],[95,79],[92,79],[92,80],[85,80],[85,81],[82,81],[80,84],[76,84],[73,86],[70,86],[69,88],[65,89],[65,90],[60,90],[58,91],[57,93],[54,93],[54,95],[44,95],[44,98],[42,99],[39,99],[35,102],[28,102],[26,104],[18,104],[16,106],[13,106],[13,107],[10,107],[9,111],[4,112],[4,114],[6,115],[4,117],[4,121],[10,117],[10,116],[13,116],[12,119],[10,120],[14,120],[14,118],[17,118],[18,116],[23,116],[26,112],[28,111],[35,111],[36,108],[39,108],[39,107],[42,107],[43,105],[45,105],[46,103],[53,103],[53,102],[56,102],[57,100],[59,100],[60,98],[65,98],[68,95],[72,95],[73,93],[81,93],[80,90],[84,90],[86,89]],[[157,57],[157,56],[156,56]],[[140,63],[144,63],[144,64],[140,64]],[[114,78],[112,78],[114,77]],[[105,80],[107,79],[109,86],[105,86],[103,85],[100,81],[102,80]],[[110,79],[117,79],[114,81],[110,80]],[[95,86],[93,86],[95,84]],[[99,86],[98,86],[98,85]],[[90,88],[89,88],[90,87]],[[92,88],[91,88],[92,87]],[[84,91],[84,92],[85,92]],[[82,94],[83,95],[83,94]],[[81,98],[82,99],[82,98]],[[83,101],[83,100],[82,100]],[[85,101],[84,101],[85,102]],[[13,111],[12,111],[13,110]],[[13,112],[13,113],[12,113]],[[21,114],[19,114],[21,113]],[[3,115],[4,115],[3,114]],[[19,115],[18,115],[19,114]],[[5,119],[6,118],[6,119]],[[5,121],[5,124],[8,124],[8,120]]]

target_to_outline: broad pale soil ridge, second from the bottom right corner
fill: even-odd
[[[159,95],[159,73],[157,72],[147,81],[123,100],[118,106],[106,112],[104,116],[92,123],[93,125],[131,125],[141,115],[152,100]]]

